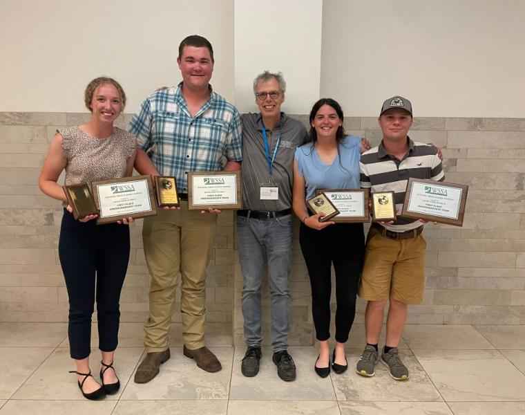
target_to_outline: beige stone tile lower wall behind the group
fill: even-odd
[[[59,126],[81,113],[0,113],[0,321],[64,322],[67,293],[57,260],[61,208],[42,195],[37,177]],[[129,116],[119,122],[125,127]],[[305,116],[298,116],[303,122]],[[351,133],[381,139],[375,118],[346,118]],[[443,149],[447,181],[470,186],[463,228],[426,225],[426,293],[410,323],[525,324],[525,120],[416,118],[412,138]],[[132,250],[122,292],[122,322],[143,322],[149,276],[141,223],[131,226]],[[309,280],[294,223],[290,344],[312,344]],[[234,249],[233,214],[218,221],[208,269],[209,329],[242,344],[242,275]],[[269,343],[269,295],[263,295]],[[356,323],[363,322],[359,302]],[[175,313],[175,324],[180,315]]]

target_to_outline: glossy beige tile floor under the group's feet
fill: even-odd
[[[349,371],[318,378],[316,349],[291,347],[298,378],[289,383],[278,379],[269,348],[263,349],[258,376],[245,378],[245,349],[225,345],[224,333],[209,336],[222,362],[216,374],[197,369],[182,355],[180,339],[173,339],[171,360],[160,375],[137,385],[142,324],[124,323],[115,361],[122,388],[99,402],[85,400],[67,373],[73,365],[66,331],[62,323],[0,323],[0,415],[525,414],[525,326],[409,325],[400,344],[410,370],[406,382],[392,380],[381,363],[373,378],[355,374],[362,325],[350,335]],[[95,359],[92,370],[99,371]]]

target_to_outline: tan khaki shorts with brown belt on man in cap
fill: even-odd
[[[391,239],[370,228],[359,297],[420,304],[425,288],[425,249],[422,234],[412,239]]]

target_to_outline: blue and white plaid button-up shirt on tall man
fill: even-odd
[[[242,124],[237,109],[210,89],[209,100],[191,117],[182,82],[149,95],[133,116],[129,131],[160,174],[175,176],[188,191],[188,172],[224,169],[242,160]]]

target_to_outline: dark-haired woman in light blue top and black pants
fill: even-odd
[[[364,255],[362,223],[321,222],[323,214],[310,215],[305,200],[317,189],[359,189],[361,138],[347,136],[343,111],[331,98],[314,104],[309,116],[311,142],[298,147],[294,159],[294,212],[301,221],[300,248],[312,286],[312,314],[319,340],[316,373],[325,378],[330,367],[336,374],[347,369],[345,342],[356,311],[356,293]],[[363,147],[370,148],[367,143]],[[366,148],[365,148],[366,149]],[[336,282],[336,346],[330,356],[331,267]],[[330,365],[332,357],[332,365]]]

